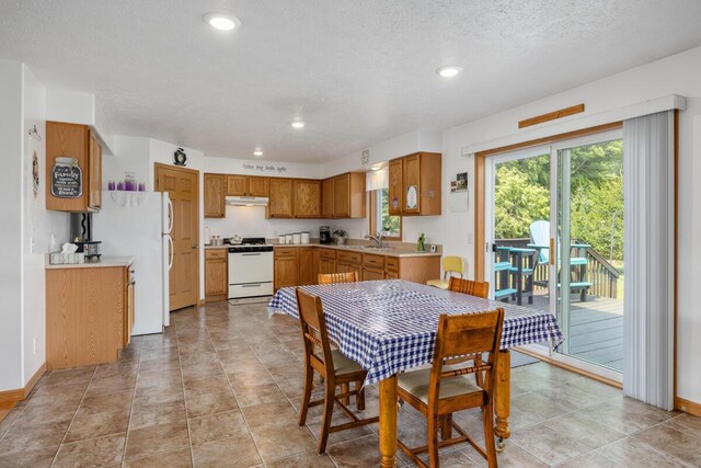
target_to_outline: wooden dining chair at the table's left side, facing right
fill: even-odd
[[[307,422],[309,408],[319,404],[324,406],[318,448],[319,454],[323,454],[326,450],[329,434],[372,424],[379,421],[379,416],[359,419],[348,409],[347,403],[344,403],[344,399],[355,396],[358,411],[365,410],[363,383],[367,376],[367,370],[341,354],[338,350],[331,349],[321,298],[297,288],[297,308],[304,340],[304,392],[299,411],[299,425],[302,426]],[[324,398],[310,401],[314,372],[319,373],[324,379]],[[349,390],[349,384],[354,384],[353,390]],[[341,386],[342,390],[336,395],[336,387],[338,386]],[[331,425],[335,403],[350,418],[350,422],[335,426]]]

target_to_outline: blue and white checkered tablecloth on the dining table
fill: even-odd
[[[269,313],[299,318],[294,287],[277,290]],[[438,317],[503,307],[502,349],[562,341],[552,313],[405,281],[302,286],[321,297],[331,340],[343,354],[368,369],[367,384],[433,359]]]

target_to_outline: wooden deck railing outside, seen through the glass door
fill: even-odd
[[[586,243],[582,239],[573,239],[577,243]],[[516,247],[525,249],[531,243],[528,238],[518,239],[497,239],[495,242],[499,247]],[[616,298],[618,292],[618,279],[620,274],[618,270],[611,263],[609,263],[599,252],[593,248],[586,249],[587,254],[587,277],[588,281],[594,283],[589,288],[589,295],[598,297]],[[537,264],[533,272],[533,279],[536,282],[536,289],[545,289],[539,286],[538,283],[548,282],[548,265]]]

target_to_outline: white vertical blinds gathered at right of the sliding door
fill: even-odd
[[[623,123],[623,393],[674,408],[674,111]]]

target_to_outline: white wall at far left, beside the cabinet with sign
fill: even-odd
[[[20,389],[46,361],[44,258],[68,240],[68,215],[47,212],[46,90],[23,64],[0,60],[0,391]],[[36,125],[38,141],[28,135]],[[39,186],[33,189],[33,155]],[[35,349],[36,342],[36,349]]]

